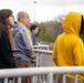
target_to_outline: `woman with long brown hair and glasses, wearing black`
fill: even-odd
[[[13,38],[11,28],[14,24],[14,17],[10,9],[0,10],[0,69],[15,68],[12,55]],[[0,79],[0,83],[3,83]]]

